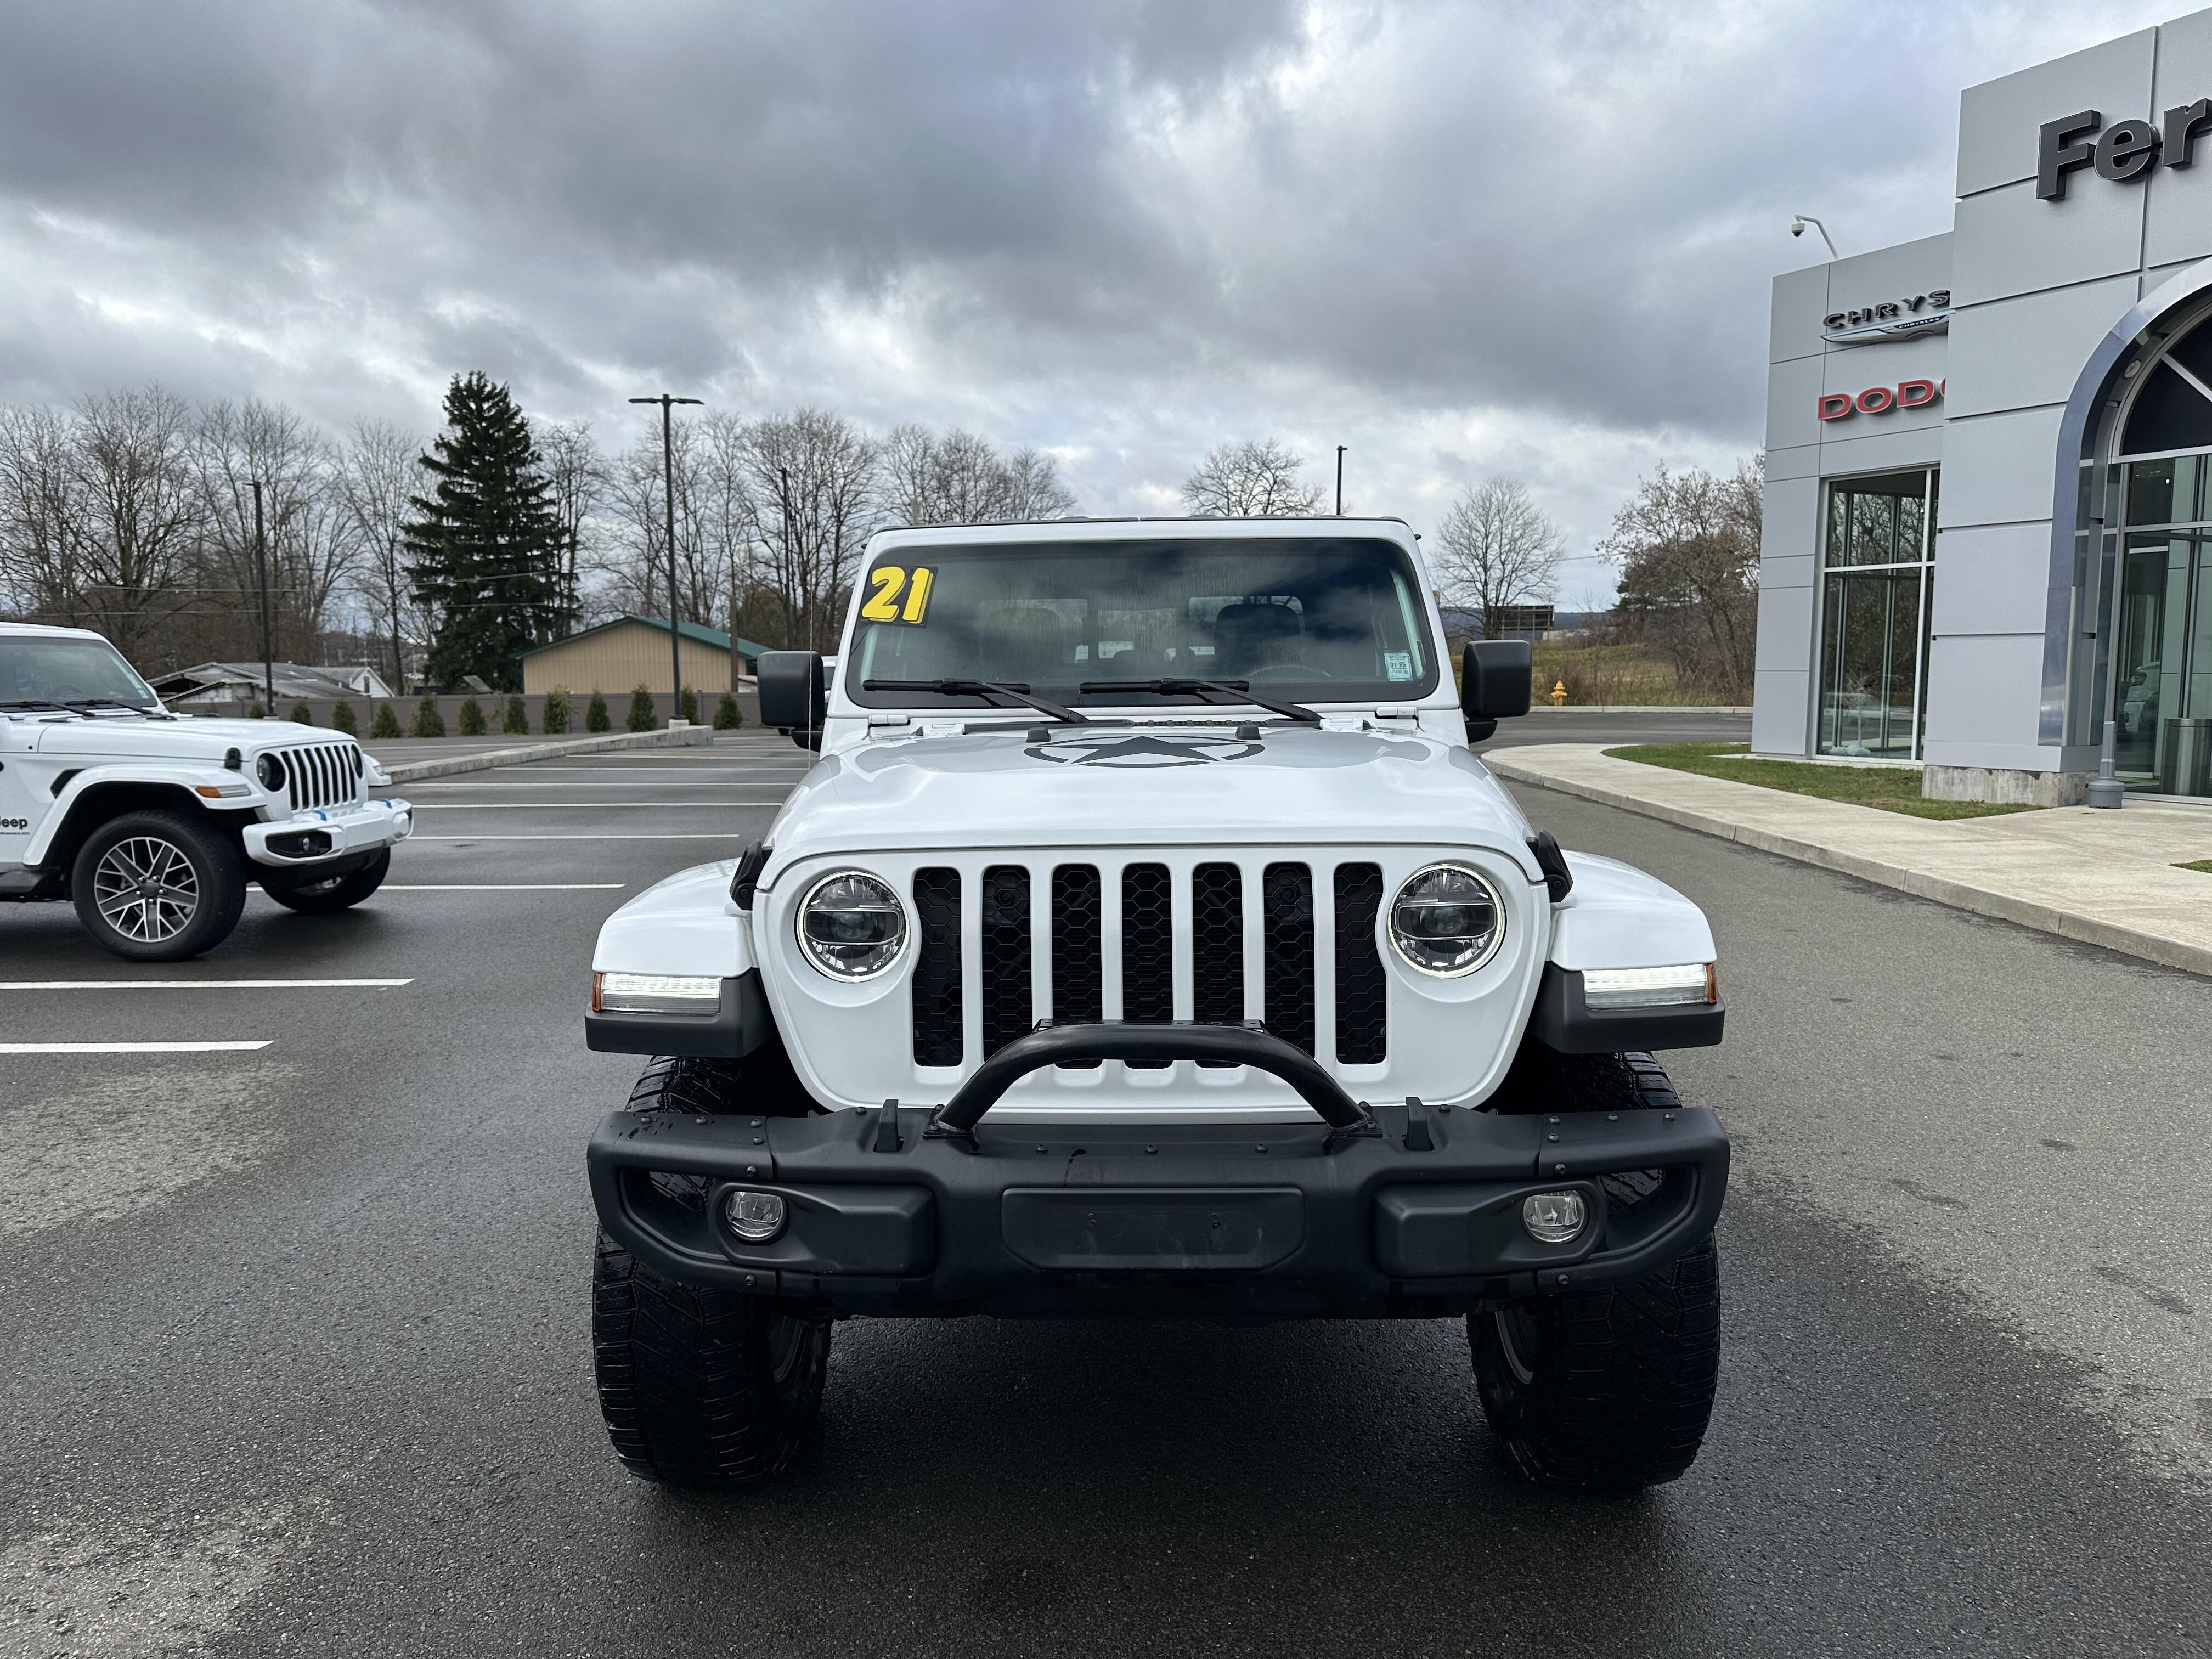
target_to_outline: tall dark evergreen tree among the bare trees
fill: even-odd
[[[575,622],[560,515],[531,422],[504,385],[456,374],[445,431],[420,465],[436,482],[409,498],[418,518],[407,524],[407,575],[436,617],[425,672],[434,686],[480,675],[498,690],[520,690],[515,655]]]

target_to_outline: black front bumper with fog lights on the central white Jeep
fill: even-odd
[[[613,1113],[588,1161],[599,1221],[661,1274],[914,1316],[1458,1314],[1652,1272],[1710,1232],[1728,1188],[1728,1135],[1708,1110],[1498,1117],[1420,1102],[1352,1128],[947,1128],[945,1113],[894,1104]],[[1639,1170],[1657,1186],[1610,1201],[1601,1177]],[[730,1232],[734,1188],[783,1197],[776,1239]],[[1522,1199],[1557,1190],[1582,1192],[1590,1221],[1544,1245]]]

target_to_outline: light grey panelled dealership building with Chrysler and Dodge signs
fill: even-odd
[[[2212,11],[1966,88],[1951,230],[1770,338],[1752,748],[2212,796]]]

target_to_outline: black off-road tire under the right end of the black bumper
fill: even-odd
[[[1650,1055],[1553,1055],[1526,1064],[1506,1110],[1679,1106]],[[1515,1073],[1524,1073],[1517,1064]],[[1542,1102],[1542,1104],[1537,1104]],[[1606,1203],[1657,1190],[1606,1177]],[[1710,1237],[1628,1285],[1537,1296],[1469,1314],[1482,1411],[1513,1464],[1548,1486],[1637,1491],[1674,1480],[1712,1418],[1721,1367],[1721,1272]]]

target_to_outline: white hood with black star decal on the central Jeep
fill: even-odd
[[[823,757],[776,816],[799,858],[927,847],[1451,843],[1531,880],[1528,821],[1482,763],[1413,732],[1159,723],[891,739]],[[1243,728],[1252,732],[1254,728]]]

